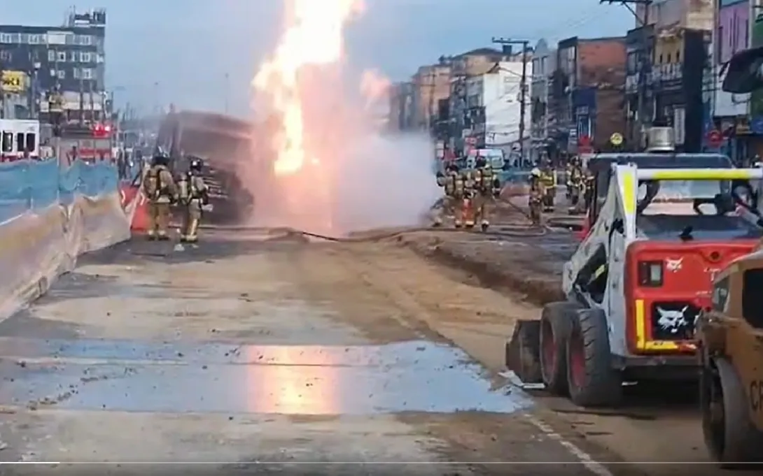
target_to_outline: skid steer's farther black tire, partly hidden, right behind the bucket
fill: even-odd
[[[580,308],[575,302],[550,302],[540,315],[540,372],[552,395],[568,395],[567,340],[571,321]]]

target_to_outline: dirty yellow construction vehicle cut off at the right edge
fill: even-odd
[[[763,251],[732,262],[697,319],[702,429],[723,468],[763,462]]]

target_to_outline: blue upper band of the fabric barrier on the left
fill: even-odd
[[[0,223],[56,203],[69,205],[78,194],[96,198],[115,193],[118,183],[117,168],[108,162],[60,166],[49,159],[0,164]]]

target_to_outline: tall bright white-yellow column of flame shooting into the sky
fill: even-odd
[[[343,56],[343,31],[359,0],[287,0],[285,30],[272,55],[257,72],[253,87],[269,99],[280,123],[273,137],[278,176],[297,174],[306,163],[319,163],[307,150],[301,75],[314,66],[333,65]]]

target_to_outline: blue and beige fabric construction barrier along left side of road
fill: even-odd
[[[77,257],[130,238],[117,168],[108,162],[0,165],[0,319],[40,296]]]

